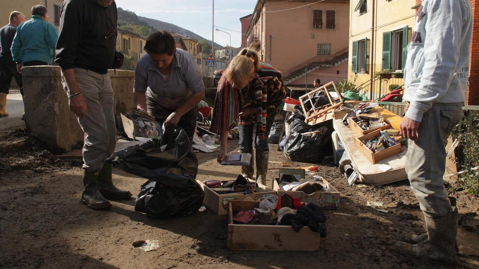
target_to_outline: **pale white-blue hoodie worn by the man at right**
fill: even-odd
[[[472,11],[469,0],[423,0],[404,68],[406,116],[421,122],[434,103],[465,101]]]

